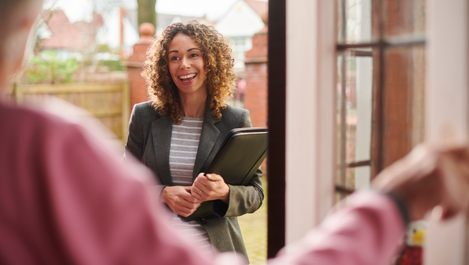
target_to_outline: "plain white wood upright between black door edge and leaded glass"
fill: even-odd
[[[286,243],[332,207],[335,164],[335,1],[287,0]]]

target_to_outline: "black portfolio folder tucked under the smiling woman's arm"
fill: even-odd
[[[225,183],[245,186],[267,156],[267,128],[232,130],[221,145],[205,174],[218,174]],[[213,201],[204,201],[184,221],[213,216]]]

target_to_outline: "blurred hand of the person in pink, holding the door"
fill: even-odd
[[[421,144],[384,169],[374,188],[402,199],[409,218],[416,220],[436,205],[441,219],[469,209],[469,149],[467,145],[435,147]]]

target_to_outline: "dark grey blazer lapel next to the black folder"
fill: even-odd
[[[220,131],[218,131],[214,124],[220,120],[221,119],[217,119],[213,116],[213,110],[210,109],[207,99],[207,107],[205,108],[205,118],[204,123],[202,124],[199,148],[197,150],[197,155],[195,156],[193,179],[199,175],[200,169],[204,165],[205,160],[207,160],[207,157],[215,145]]]

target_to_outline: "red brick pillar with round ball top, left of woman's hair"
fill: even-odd
[[[155,27],[151,23],[145,22],[138,27],[138,31],[140,40],[133,46],[133,54],[125,62],[130,83],[130,110],[132,110],[133,105],[148,101],[147,86],[140,73],[145,62],[147,49],[155,34]]]

